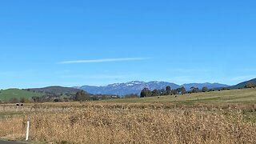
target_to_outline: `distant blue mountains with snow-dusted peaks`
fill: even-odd
[[[115,94],[115,95],[126,95],[126,94],[140,94],[143,88],[149,88],[150,90],[154,89],[165,89],[166,86],[170,86],[171,89],[177,89],[181,86],[171,83],[171,82],[140,82],[140,81],[132,81],[125,83],[114,83],[107,86],[77,86],[74,88],[80,90],[86,90],[86,92],[90,94]],[[219,84],[219,83],[191,83],[182,85],[186,88],[186,90],[190,90],[190,87],[198,87],[202,89],[203,86],[207,86],[209,89],[216,87],[226,87],[227,85]]]

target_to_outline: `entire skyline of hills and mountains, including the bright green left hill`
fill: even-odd
[[[186,90],[190,90],[190,87],[198,87],[198,89],[202,90],[203,86],[208,87],[208,89],[222,90],[222,88],[234,90],[234,89],[242,89],[246,86],[248,82],[256,83],[256,78],[251,79],[246,82],[240,82],[234,86],[228,86],[220,83],[188,83],[183,84]],[[164,89],[166,86],[171,86],[172,89],[177,89],[181,87],[175,83],[171,82],[140,82],[140,81],[132,81],[132,82],[124,82],[124,83],[114,83],[107,86],[76,86],[76,87],[62,87],[62,86],[48,86],[43,88],[30,88],[30,89],[8,89],[8,90],[0,90],[0,102],[5,99],[8,100],[10,98],[31,98],[34,96],[42,96],[43,94],[66,94],[72,95],[78,92],[79,90],[86,90],[86,92],[90,94],[116,94],[116,95],[126,95],[126,94],[139,94],[140,91],[147,87],[150,90],[154,89]]]

